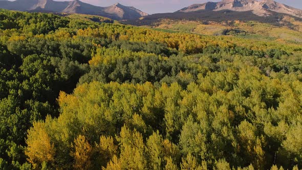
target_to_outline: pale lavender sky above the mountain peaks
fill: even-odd
[[[68,1],[68,0],[55,0]],[[175,12],[192,4],[208,2],[207,0],[80,0],[96,6],[111,6],[120,3],[124,6],[133,6],[148,14]],[[212,2],[220,2],[221,0],[211,0]],[[294,8],[302,9],[302,0],[275,0]]]

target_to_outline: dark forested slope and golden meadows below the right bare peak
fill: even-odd
[[[268,38],[302,42],[302,19],[272,12],[272,16],[257,16],[251,11],[231,10],[174,12],[153,14],[127,24],[204,35],[232,35],[243,38]]]

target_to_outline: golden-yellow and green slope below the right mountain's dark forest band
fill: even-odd
[[[302,22],[294,20],[290,17],[285,19],[287,19],[287,21],[291,23],[290,26],[275,26],[256,21],[244,22],[239,20],[236,20],[234,22],[205,23],[200,21],[161,19],[160,22],[155,23],[152,27],[203,35],[221,35],[223,30],[236,29],[246,33],[244,36],[242,34],[235,35],[242,38],[269,39],[301,44]]]

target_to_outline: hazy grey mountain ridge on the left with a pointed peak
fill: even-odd
[[[57,2],[53,0],[16,0],[10,2],[0,0],[0,8],[29,12],[90,14],[116,20],[135,19],[148,15],[134,7],[126,7],[118,3],[109,7],[98,7],[78,0],[69,2]]]

